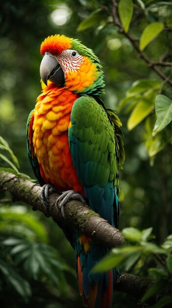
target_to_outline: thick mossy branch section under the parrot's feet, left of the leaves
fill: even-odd
[[[41,187],[24,178],[19,179],[14,174],[0,172],[0,189],[10,191],[13,201],[23,201],[64,226],[66,225],[68,229],[84,232],[86,236],[101,242],[109,249],[124,243],[123,236],[118,229],[109,225],[105,219],[99,217],[80,201],[73,200],[66,203],[64,218],[55,206],[59,195],[52,193],[49,197],[49,207],[46,207],[39,197]]]

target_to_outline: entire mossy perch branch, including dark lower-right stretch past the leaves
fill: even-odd
[[[51,216],[57,222],[68,228],[76,229],[91,239],[102,243],[108,248],[123,245],[124,239],[120,231],[111,225],[87,206],[79,201],[67,202],[64,207],[65,218],[60,215],[55,201],[58,194],[53,193],[49,197],[49,207],[46,207],[40,199],[41,187],[24,178],[0,171],[0,191],[9,191],[13,202],[23,201],[45,215]],[[118,279],[116,290],[141,299],[153,280],[123,273]],[[152,301],[152,299],[151,299]],[[156,302],[156,299],[153,300]]]

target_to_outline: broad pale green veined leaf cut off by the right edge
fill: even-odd
[[[172,100],[159,94],[155,98],[155,112],[157,120],[153,128],[153,136],[172,122]]]

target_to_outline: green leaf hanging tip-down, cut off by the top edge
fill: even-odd
[[[125,32],[128,32],[131,18],[133,15],[133,2],[132,0],[120,0],[118,4],[118,12],[121,23]]]

